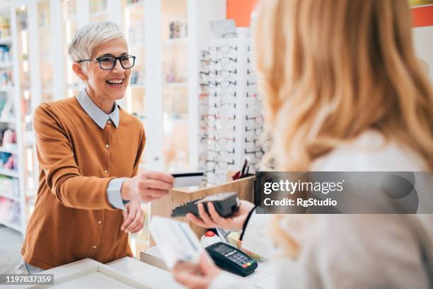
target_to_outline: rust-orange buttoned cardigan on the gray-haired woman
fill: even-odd
[[[115,177],[137,174],[146,141],[142,123],[120,109],[118,128],[108,122],[102,130],[76,98],[67,98],[38,106],[33,125],[40,176],[24,261],[48,269],[132,256],[120,230],[122,211],[108,203],[107,187]]]

